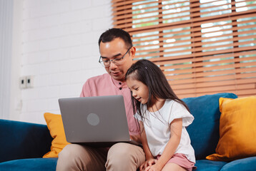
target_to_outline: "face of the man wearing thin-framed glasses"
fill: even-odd
[[[114,58],[122,58],[127,52],[128,48],[121,38],[114,38],[113,41],[100,43],[99,53],[104,60],[111,60]],[[135,55],[136,49],[132,47],[128,53],[122,58],[122,63],[119,65],[110,63],[109,67],[105,67],[107,73],[117,81],[124,81],[127,70],[132,66],[132,58]]]

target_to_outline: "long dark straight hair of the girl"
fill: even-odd
[[[157,98],[160,98],[175,100],[184,105],[184,107],[189,111],[186,103],[180,100],[172,90],[171,86],[169,86],[169,83],[161,69],[151,61],[142,59],[132,64],[125,75],[125,79],[127,78],[141,81],[149,88],[147,108],[152,107],[152,105],[157,101]],[[132,105],[134,113],[137,112],[142,116],[142,118],[144,118],[144,111],[142,111],[141,103],[134,97],[132,97]]]

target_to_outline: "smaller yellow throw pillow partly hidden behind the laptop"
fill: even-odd
[[[61,115],[44,113],[44,119],[46,120],[51,137],[54,138],[51,142],[51,151],[47,152],[44,155],[44,158],[58,157],[59,152],[69,144],[64,133]]]

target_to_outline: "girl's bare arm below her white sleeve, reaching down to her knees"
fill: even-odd
[[[157,163],[152,166],[155,168],[155,170],[162,170],[167,161],[172,157],[172,155],[174,155],[182,136],[182,118],[172,121],[170,124],[170,131],[171,138],[169,139],[169,142],[167,142],[164,152],[162,153],[161,157],[159,157]]]

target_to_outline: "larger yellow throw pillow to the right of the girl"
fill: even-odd
[[[256,156],[256,95],[220,98],[220,140],[208,160],[231,161]]]

